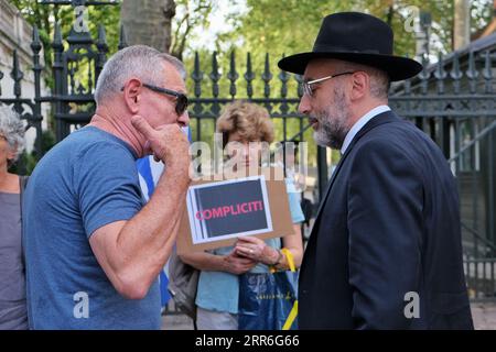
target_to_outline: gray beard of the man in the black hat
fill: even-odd
[[[342,89],[336,87],[333,98],[335,101],[334,109],[331,110],[331,107],[328,107],[326,111],[317,113],[319,129],[313,132],[313,139],[321,146],[341,150],[349,131],[351,112]]]

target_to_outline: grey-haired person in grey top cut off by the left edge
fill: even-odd
[[[0,107],[0,330],[28,329],[22,253],[23,177],[8,172],[24,147],[24,125]]]

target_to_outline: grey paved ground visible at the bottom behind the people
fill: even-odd
[[[472,304],[472,317],[477,330],[496,330],[496,304]],[[162,317],[164,330],[193,330],[193,321],[184,315]]]

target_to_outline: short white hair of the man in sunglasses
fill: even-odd
[[[174,56],[161,53],[147,45],[132,45],[117,52],[111,56],[101,70],[95,88],[97,106],[105,99],[118,94],[126,80],[137,77],[143,82],[160,86],[166,78],[163,63],[172,64],[183,79],[186,70],[182,62]]]

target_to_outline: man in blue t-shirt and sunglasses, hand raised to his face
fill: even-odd
[[[184,67],[137,45],[105,65],[96,113],[37,164],[23,209],[31,329],[159,329],[158,276],[190,184]],[[166,164],[144,206],[136,160]]]

